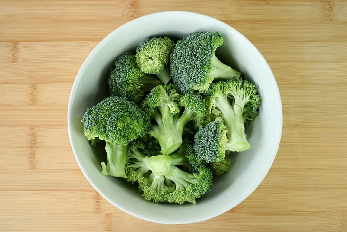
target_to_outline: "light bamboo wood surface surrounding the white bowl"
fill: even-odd
[[[209,221],[160,225],[123,213],[70,148],[75,75],[108,33],[166,10],[243,33],[276,76],[283,134],[244,202]],[[0,1],[0,231],[347,231],[346,1]]]

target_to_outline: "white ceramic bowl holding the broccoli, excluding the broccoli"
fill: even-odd
[[[242,71],[259,88],[259,115],[247,130],[251,148],[232,157],[229,173],[214,178],[212,190],[197,204],[163,204],[146,201],[137,188],[122,178],[100,173],[103,147],[93,148],[83,135],[82,116],[101,101],[114,61],[133,51],[146,37],[182,38],[195,31],[218,31],[225,38],[217,56]],[[102,197],[128,214],[147,221],[184,224],[216,217],[246,199],[268,173],[282,132],[282,105],[276,80],[260,52],[242,34],[217,19],[182,11],[160,12],[130,21],[110,33],[88,55],[79,70],[68,107],[68,130],[75,158],[83,174]]]

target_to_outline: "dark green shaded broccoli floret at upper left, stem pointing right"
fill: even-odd
[[[160,84],[157,77],[145,74],[139,69],[132,54],[125,54],[115,62],[108,79],[111,96],[126,97],[135,103],[142,100],[144,92],[149,92]]]

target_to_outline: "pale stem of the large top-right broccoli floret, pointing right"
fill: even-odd
[[[241,72],[236,71],[235,69],[232,69],[230,66],[222,63],[215,54],[212,55],[211,63],[212,72],[210,75],[214,79],[220,79],[220,80],[228,80],[233,77],[239,78],[241,76]]]

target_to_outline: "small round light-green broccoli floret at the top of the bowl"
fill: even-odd
[[[167,85],[171,80],[167,64],[174,46],[168,37],[148,37],[136,48],[136,62],[144,73],[156,74]]]

